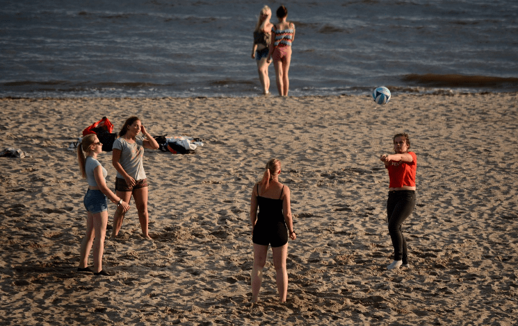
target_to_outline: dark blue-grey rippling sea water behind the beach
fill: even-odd
[[[275,1],[1,0],[0,97],[261,96],[264,4],[277,22]],[[518,91],[518,1],[284,5],[291,96]]]

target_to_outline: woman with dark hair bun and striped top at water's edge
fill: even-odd
[[[272,28],[272,42],[268,53],[268,62],[273,57],[275,67],[275,81],[280,96],[288,96],[289,91],[289,64],[291,62],[291,42],[295,40],[295,24],[286,22],[288,10],[284,6],[277,9],[279,24]]]

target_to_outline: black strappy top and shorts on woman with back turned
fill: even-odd
[[[259,214],[254,227],[252,242],[261,246],[271,245],[273,248],[282,247],[288,243],[288,228],[282,214],[282,186],[279,199],[272,199],[259,196],[259,185],[257,185],[257,203],[259,203]]]

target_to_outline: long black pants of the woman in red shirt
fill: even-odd
[[[401,225],[412,214],[416,205],[416,192],[413,190],[389,191],[387,200],[387,218],[389,233],[394,246],[394,260],[403,260],[408,264],[407,241],[403,237]]]

